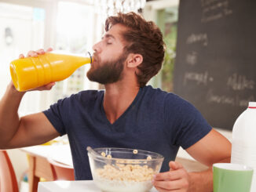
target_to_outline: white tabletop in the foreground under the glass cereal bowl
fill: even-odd
[[[101,192],[92,180],[39,182],[38,192]],[[133,191],[131,191],[133,192]],[[157,192],[155,187],[149,192]]]

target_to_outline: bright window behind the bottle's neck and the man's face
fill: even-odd
[[[86,53],[93,45],[94,16],[92,5],[59,2],[57,6],[56,45],[54,49],[67,53]],[[79,67],[64,81],[53,87],[53,102],[72,93],[90,88],[86,78],[89,66]]]

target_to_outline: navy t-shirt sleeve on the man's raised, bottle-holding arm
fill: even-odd
[[[49,107],[48,110],[44,110],[43,113],[46,115],[46,118],[51,122],[53,127],[60,133],[60,136],[63,136],[67,133],[65,129],[64,119],[67,119],[67,115],[65,114],[66,109],[66,102],[67,98],[64,100],[58,100],[57,103],[54,103]]]

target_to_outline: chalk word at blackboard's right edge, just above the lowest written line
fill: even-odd
[[[237,91],[244,89],[253,90],[255,82],[253,80],[247,79],[245,75],[234,73],[231,77],[228,78],[227,85],[229,88]]]

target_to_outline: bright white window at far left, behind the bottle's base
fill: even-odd
[[[45,9],[0,2],[0,98],[11,80],[9,63],[18,59],[20,53],[27,54],[35,47],[43,47],[44,26]],[[27,92],[19,113],[29,114],[39,108],[40,93]]]

